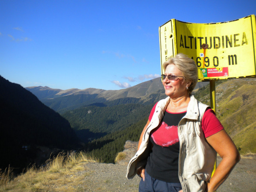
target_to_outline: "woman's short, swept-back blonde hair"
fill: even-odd
[[[183,53],[178,53],[175,57],[170,57],[169,60],[163,63],[163,69],[170,64],[174,64],[184,75],[185,82],[191,82],[188,87],[188,93],[191,95],[198,81],[197,66],[193,59]]]

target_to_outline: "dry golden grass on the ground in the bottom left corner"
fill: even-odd
[[[98,162],[83,152],[60,153],[48,159],[44,167],[32,167],[26,173],[11,179],[10,169],[0,173],[0,192],[82,191],[83,163]]]

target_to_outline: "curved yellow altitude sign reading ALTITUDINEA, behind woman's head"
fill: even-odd
[[[159,27],[162,64],[184,53],[197,64],[199,80],[256,76],[256,21],[249,15],[221,23],[171,19]]]

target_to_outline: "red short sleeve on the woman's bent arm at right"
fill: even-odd
[[[204,112],[202,129],[206,138],[224,129],[211,108],[206,109]]]

